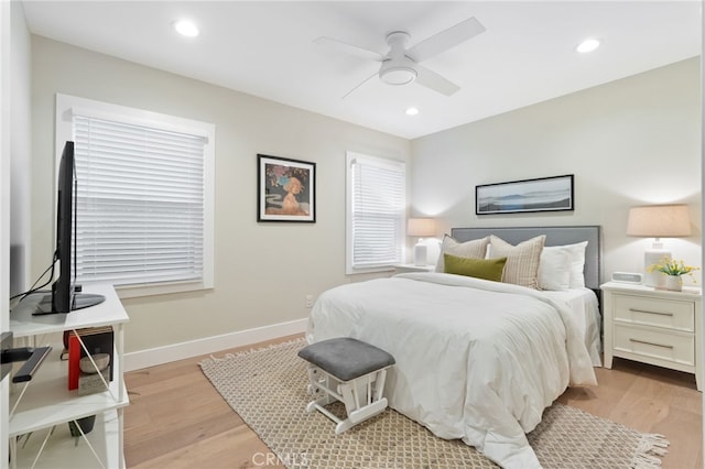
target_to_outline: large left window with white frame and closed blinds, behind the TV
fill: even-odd
[[[215,126],[56,97],[75,142],[76,281],[121,296],[213,287]]]

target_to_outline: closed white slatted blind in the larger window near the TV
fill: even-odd
[[[80,114],[73,130],[77,281],[203,281],[207,139]]]

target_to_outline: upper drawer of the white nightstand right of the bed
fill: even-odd
[[[695,305],[693,302],[679,302],[643,296],[614,295],[614,315],[616,321],[644,324],[670,329],[695,330]]]

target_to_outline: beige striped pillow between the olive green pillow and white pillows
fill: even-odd
[[[545,234],[541,234],[512,246],[490,234],[490,258],[507,258],[502,282],[539,290],[539,264],[545,241]]]

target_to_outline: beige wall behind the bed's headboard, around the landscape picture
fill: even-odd
[[[699,89],[692,58],[414,140],[412,214],[445,230],[600,225],[609,276],[640,272],[651,246],[625,234],[630,206],[686,203],[693,236],[664,243],[699,265]],[[478,184],[563,174],[575,175],[575,211],[475,215]]]

